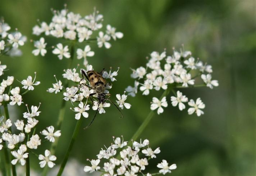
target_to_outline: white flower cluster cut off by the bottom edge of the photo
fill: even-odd
[[[156,158],[156,154],[160,153],[160,147],[157,147],[155,150],[149,147],[149,141],[146,139],[143,142],[140,141],[133,142],[132,147],[128,146],[127,148],[120,151],[119,155],[116,156],[118,148],[124,148],[127,146],[127,141],[122,141],[120,137],[114,138],[114,144],[106,147],[105,149],[101,148],[100,153],[97,155],[97,160],[88,160],[91,162],[92,166],[85,166],[85,172],[94,172],[100,170],[100,160],[106,159],[104,162],[104,176],[116,176],[116,175],[125,175],[125,176],[137,176],[138,173],[143,174],[143,171],[148,165],[148,160],[151,158]],[[165,173],[170,173],[171,170],[177,168],[175,164],[168,166],[166,160],[162,160],[161,163],[157,165],[159,173],[165,175]],[[100,170],[101,171],[101,170]],[[151,176],[150,173],[147,173],[147,176]]]

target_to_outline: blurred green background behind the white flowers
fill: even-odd
[[[156,164],[162,159],[176,163],[178,168],[173,176],[255,176],[255,54],[256,54],[256,2],[254,0],[1,0],[0,16],[12,29],[18,30],[30,39],[32,27],[40,21],[50,22],[50,8],[60,10],[67,3],[69,11],[82,16],[92,13],[93,7],[104,15],[104,26],[111,24],[124,33],[123,39],[112,42],[112,47],[99,49],[91,44],[95,56],[88,61],[96,70],[103,67],[120,67],[118,81],[113,83],[111,94],[122,93],[128,85],[131,68],[145,66],[145,57],[152,51],[172,54],[172,47],[184,44],[195,58],[199,57],[213,67],[213,78],[219,80],[219,87],[191,88],[183,92],[189,98],[201,97],[206,104],[201,117],[189,116],[177,107],[169,106],[161,115],[155,115],[141,138],[149,139],[152,148],[160,146],[161,153],[150,161],[148,171],[157,172]],[[58,40],[47,40],[49,46]],[[47,93],[46,89],[55,83],[53,77],[61,79],[67,59],[59,60],[48,51],[45,57],[32,55],[33,43],[23,47],[22,57],[3,57],[1,63],[8,66],[7,75],[22,80],[37,72],[41,81],[35,91],[23,96],[23,101],[31,105],[42,102],[42,111],[37,130],[55,125],[60,107],[61,94]],[[82,60],[75,59],[76,64]],[[63,79],[62,79],[63,80]],[[15,82],[15,85],[20,84]],[[159,92],[149,96],[141,93],[129,97],[130,110],[123,110],[124,118],[119,119],[114,107],[106,109],[106,114],[98,115],[92,126],[80,130],[71,157],[83,166],[86,158],[96,158],[103,145],[110,145],[112,136],[123,135],[129,140],[150,111],[150,101]],[[112,97],[114,99],[114,96]],[[76,120],[74,112],[66,106],[63,128],[57,148],[57,163],[61,162],[67,150]],[[22,118],[26,107],[10,108],[11,118]],[[83,121],[83,126],[88,124]],[[36,151],[42,153],[49,147],[44,143]],[[35,170],[40,171],[38,160],[32,157]],[[83,172],[82,172],[83,173]],[[84,173],[85,174],[85,173]]]

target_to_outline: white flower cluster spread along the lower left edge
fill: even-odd
[[[6,68],[6,65],[0,65],[2,70]],[[36,74],[36,73],[35,73]],[[24,89],[27,89],[26,92],[32,91],[34,89],[34,85],[40,84],[39,81],[35,82],[36,76],[32,81],[32,77],[28,76],[27,79],[22,80],[22,85]],[[14,77],[8,76],[6,80],[1,82],[0,86],[0,105],[6,106],[8,108],[8,104],[14,106],[18,104],[20,106],[22,102],[22,96],[20,94],[20,88],[15,87],[11,88],[13,84]],[[7,88],[10,86],[10,88]],[[9,91],[8,91],[9,90]],[[24,93],[26,93],[24,92]],[[23,94],[24,94],[23,93]],[[40,103],[41,104],[41,103]],[[11,119],[6,115],[6,120],[4,120],[4,116],[0,118],[0,150],[5,147],[3,142],[6,143],[6,150],[10,150],[10,153],[14,156],[15,159],[11,161],[13,165],[19,162],[21,165],[26,164],[26,158],[31,154],[30,150],[37,149],[38,146],[41,145],[41,139],[38,134],[36,134],[36,125],[38,123],[37,117],[40,115],[40,111],[38,111],[39,106],[31,106],[31,111],[29,111],[28,105],[27,112],[23,113],[24,119],[17,119],[16,122],[12,122]],[[12,118],[12,117],[11,117]],[[14,125],[13,125],[14,124]],[[15,131],[18,131],[18,134],[14,134],[12,131],[12,127],[15,126]],[[54,142],[56,137],[61,135],[60,130],[54,131],[53,126],[49,126],[40,132],[46,140],[50,142]],[[53,167],[55,164],[52,161],[56,160],[55,156],[50,155],[50,151],[45,151],[45,156],[39,155],[40,167],[44,167],[46,163],[48,163],[49,167]]]

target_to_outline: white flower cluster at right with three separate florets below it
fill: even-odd
[[[211,65],[195,59],[190,51],[184,51],[184,49],[181,49],[180,52],[174,50],[172,56],[166,56],[166,51],[161,54],[154,51],[150,54],[146,68],[139,67],[132,69],[132,71],[131,77],[137,80],[134,82],[134,87],[128,86],[125,90],[128,95],[133,97],[137,94],[139,86],[143,95],[148,95],[153,89],[156,91],[166,90],[168,86],[171,89],[197,87],[198,84],[195,85],[195,79],[200,76],[203,81],[202,86],[212,89],[219,85],[217,80],[211,79]],[[177,91],[177,94],[174,92],[174,95],[171,97],[172,105],[178,105],[180,111],[182,111],[186,107],[184,102],[188,102],[188,98],[180,91]],[[197,116],[204,114],[201,109],[205,108],[205,104],[200,98],[197,98],[196,102],[191,99],[188,105],[191,106],[188,109],[188,114],[194,112]],[[161,100],[153,97],[151,110],[157,109],[157,114],[163,113],[163,107],[167,106],[166,97]]]

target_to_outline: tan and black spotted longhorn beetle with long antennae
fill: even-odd
[[[84,77],[88,80],[88,82],[90,83],[90,85],[87,85],[85,83],[82,83],[83,85],[87,86],[88,88],[90,89],[93,89],[95,90],[94,93],[91,93],[89,95],[91,101],[93,102],[91,96],[94,96],[95,94],[97,94],[97,99],[98,99],[98,107],[97,107],[97,110],[96,110],[96,113],[92,119],[92,121],[90,122],[90,124],[88,124],[87,127],[85,127],[84,129],[88,128],[93,120],[95,119],[96,115],[97,115],[97,112],[98,112],[98,109],[100,108],[100,106],[102,106],[102,104],[104,104],[107,100],[110,101],[112,104],[114,104],[114,106],[118,109],[118,111],[121,113],[121,118],[123,118],[123,114],[122,112],[120,111],[120,109],[116,106],[116,104],[111,101],[109,99],[109,97],[111,96],[109,93],[105,93],[105,88],[107,86],[109,86],[109,83],[106,82],[106,80],[102,77],[103,73],[104,73],[104,68],[101,70],[100,73],[98,72],[95,72],[93,70],[89,70],[87,72],[85,72],[83,69],[81,69],[81,74],[82,74],[82,77],[84,79]],[[106,98],[106,96],[108,96],[108,98]]]

